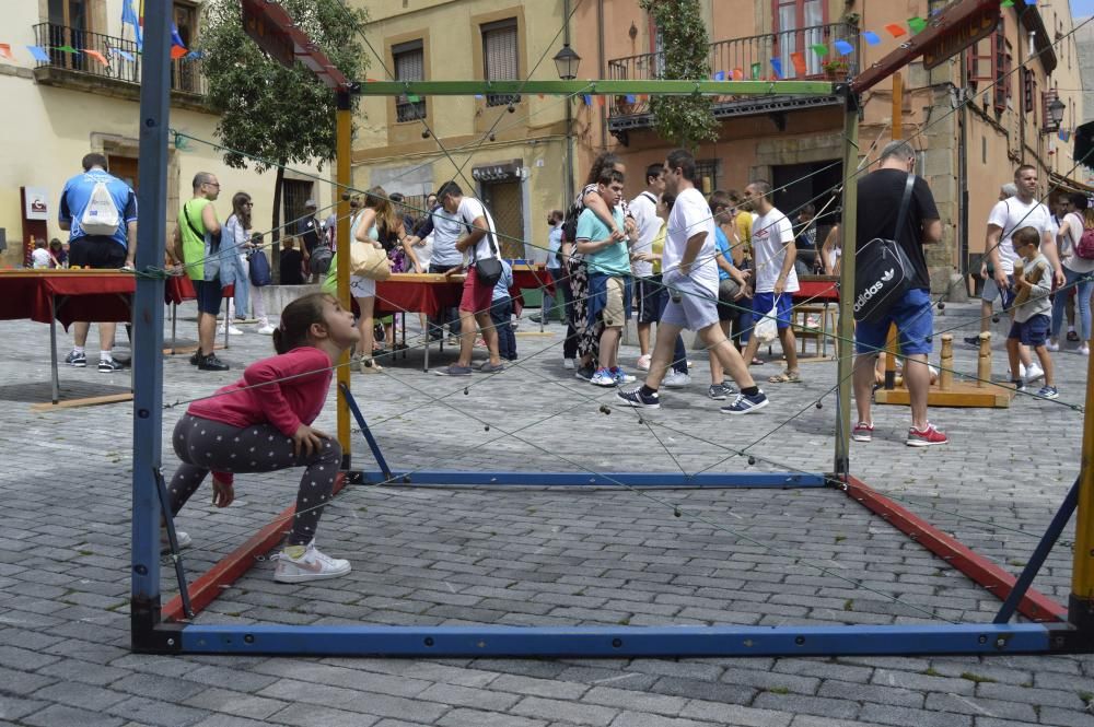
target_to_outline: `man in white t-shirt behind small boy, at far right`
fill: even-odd
[[[1040,251],[1052,266],[1057,285],[1063,284],[1063,270],[1056,250],[1052,234],[1052,214],[1037,201],[1037,168],[1023,164],[1014,171],[1017,195],[997,202],[988,215],[988,234],[985,241],[985,261],[980,265],[984,291],[980,294],[980,332],[986,332],[991,321],[991,308],[996,298],[1004,310],[1010,310],[1014,300],[1014,260],[1017,256],[1011,245],[1011,235],[1020,227],[1034,227],[1041,234]],[[974,342],[975,341],[975,342]],[[979,345],[978,337],[966,339],[967,343]],[[1026,371],[1026,377],[1035,380],[1044,375],[1040,366],[1034,365],[1029,349],[1019,347],[1019,359]],[[1013,376],[1019,376],[1014,373]]]

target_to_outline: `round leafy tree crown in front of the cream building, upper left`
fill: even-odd
[[[368,16],[344,0],[280,0],[296,25],[350,80],[368,66],[359,30]],[[207,101],[220,114],[217,138],[224,163],[275,164],[333,160],[335,95],[303,65],[286,68],[269,58],[243,30],[238,0],[205,3],[197,47],[205,54]],[[244,152],[258,160],[247,159]]]

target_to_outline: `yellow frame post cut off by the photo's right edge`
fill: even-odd
[[[1091,341],[1094,342],[1094,337]],[[1079,479],[1068,621],[1087,636],[1094,636],[1094,356],[1086,363],[1086,409]]]

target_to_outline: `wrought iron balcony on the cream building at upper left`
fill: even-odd
[[[35,67],[39,83],[88,90],[106,87],[117,95],[133,97],[139,93],[140,54],[135,40],[56,23],[35,25],[34,38],[49,56],[49,60],[39,60]],[[171,90],[176,99],[178,94],[185,94],[200,102],[207,85],[199,58],[171,61]]]

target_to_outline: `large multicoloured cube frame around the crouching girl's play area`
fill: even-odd
[[[982,0],[971,0],[982,2]],[[244,0],[259,10],[277,8],[263,0]],[[280,10],[277,8],[277,10]],[[283,12],[283,11],[282,11]],[[275,19],[276,20],[276,19]],[[270,21],[274,22],[274,21]],[[276,25],[276,22],[274,22]],[[147,222],[141,224],[138,245],[139,269],[154,268],[163,255],[166,236],[166,150],[170,89],[170,19],[164,3],[150,3],[144,17],[144,63],[142,69],[140,106],[140,206],[147,211]],[[266,26],[266,32],[271,32]],[[289,28],[282,28],[288,33]],[[298,57],[307,56],[312,65],[323,70],[318,73],[338,93],[338,183],[349,187],[349,130],[350,94],[388,95],[417,94],[478,94],[478,93],[562,93],[562,94],[616,94],[616,93],[712,93],[712,94],[780,94],[831,95],[836,93],[846,103],[847,152],[845,156],[845,250],[841,285],[851,290],[853,281],[853,241],[856,222],[857,133],[859,109],[856,91],[848,85],[833,86],[810,82],[713,82],[713,81],[589,81],[589,82],[421,82],[421,83],[368,83],[363,86],[333,79],[329,65],[316,60],[313,45],[294,39]],[[284,48],[282,44],[281,48]],[[920,49],[921,52],[921,49]],[[324,75],[325,74],[325,75]],[[339,207],[339,224],[345,226],[348,203]],[[339,227],[339,238],[348,230]],[[847,254],[850,253],[850,254]],[[339,266],[338,291],[348,300],[348,270]],[[580,472],[417,472],[406,474],[408,484],[429,482],[447,485],[581,485],[619,484],[630,486],[648,484],[687,486],[839,486],[863,504],[870,500],[877,508],[886,509],[891,519],[901,530],[919,536],[930,536],[931,550],[958,552],[955,541],[919,521],[910,514],[896,513],[892,503],[871,492],[848,474],[850,432],[851,332],[850,296],[840,298],[839,319],[839,390],[838,429],[836,436],[835,474],[703,474],[661,476],[649,473],[613,473],[589,476]],[[1072,495],[1061,507],[1046,533],[1027,572],[1016,582],[1005,573],[988,576],[1010,578],[1006,603],[994,623],[986,624],[916,624],[895,626],[608,626],[608,628],[535,628],[535,626],[463,626],[463,628],[403,628],[403,626],[286,626],[286,625],[206,625],[195,623],[167,623],[160,602],[160,552],[158,482],[161,467],[162,384],[161,348],[163,338],[163,281],[155,277],[140,277],[135,302],[133,367],[136,375],[133,407],[133,479],[132,479],[132,648],[151,653],[217,653],[217,654],[310,654],[310,655],[386,655],[386,656],[581,656],[581,657],[642,657],[642,656],[783,656],[836,654],[1015,654],[1094,652],[1094,388],[1087,389],[1083,462],[1079,481]],[[349,447],[349,392],[348,375],[339,370],[339,438],[345,450]],[[1094,382],[1094,361],[1091,362],[1089,382]],[[360,412],[354,412],[368,432]],[[370,446],[374,444],[370,442]],[[361,472],[362,481],[389,481],[388,468],[379,447],[373,446],[382,472]],[[345,462],[349,469],[349,459]],[[396,473],[397,474],[397,473]],[[886,505],[885,503],[888,503]],[[868,506],[871,506],[868,504]],[[1033,579],[1051,548],[1059,530],[1070,518],[1072,509],[1079,512],[1072,595],[1066,610],[1051,601],[1031,602],[1028,583]],[[875,512],[881,512],[880,509]],[[898,515],[899,517],[894,517]],[[166,517],[168,533],[173,538],[172,518]],[[269,542],[276,533],[267,526],[252,541],[265,533]],[[959,544],[959,543],[958,543]],[[950,549],[946,551],[945,549]],[[967,550],[967,549],[966,549]],[[237,551],[238,552],[238,551]],[[970,552],[970,551],[969,551]],[[945,555],[943,555],[945,556]],[[963,554],[966,559],[967,554]],[[981,559],[982,560],[982,559]],[[953,562],[953,561],[951,561]],[[238,565],[238,563],[237,563]],[[229,566],[230,567],[230,566]],[[237,567],[242,573],[245,565]],[[182,581],[182,579],[181,579]],[[185,590],[185,584],[184,584]],[[998,591],[997,591],[998,593]],[[189,605],[184,601],[188,610]],[[1055,608],[1054,608],[1055,607]],[[1049,623],[1011,623],[1015,609],[1031,618],[1061,618],[1067,621]],[[1037,609],[1040,609],[1039,611]],[[176,610],[177,612],[177,610]]]

